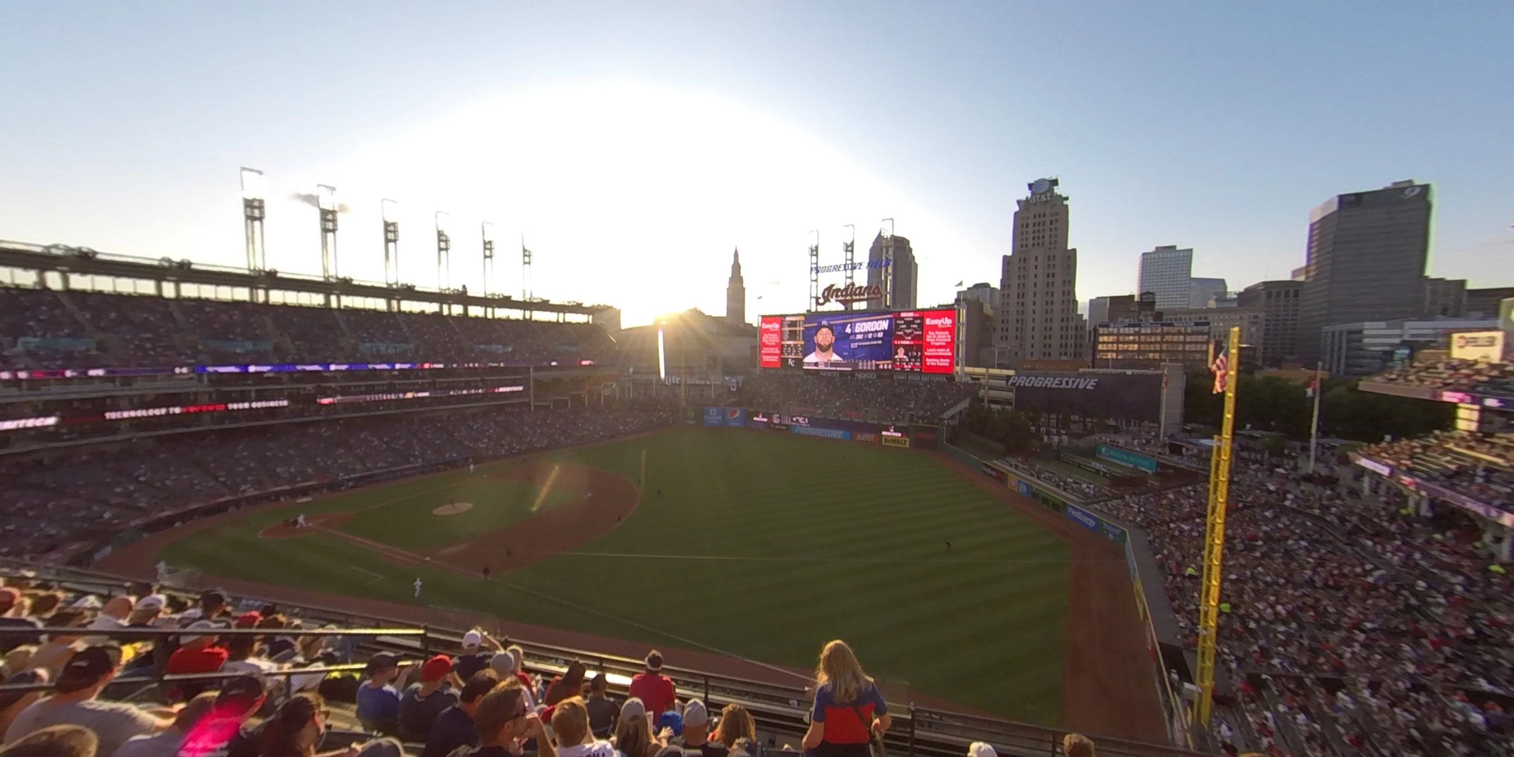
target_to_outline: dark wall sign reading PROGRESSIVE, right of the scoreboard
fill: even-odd
[[[1031,374],[1005,378],[1014,409],[1111,421],[1161,422],[1160,374]]]

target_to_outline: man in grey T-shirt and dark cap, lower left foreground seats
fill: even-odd
[[[58,674],[53,695],[21,710],[6,730],[5,740],[14,742],[48,725],[70,722],[91,728],[100,739],[100,751],[115,754],[133,736],[168,728],[173,724],[168,718],[130,704],[97,699],[120,666],[121,650],[114,645],[89,646],[73,656]]]

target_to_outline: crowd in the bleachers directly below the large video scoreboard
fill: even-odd
[[[746,377],[731,403],[766,412],[907,422],[936,421],[969,397],[967,383],[759,372]]]

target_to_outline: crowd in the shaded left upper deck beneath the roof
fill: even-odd
[[[598,326],[0,286],[0,368],[597,360]]]

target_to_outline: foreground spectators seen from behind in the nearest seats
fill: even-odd
[[[612,693],[606,671],[580,660],[528,665],[525,648],[478,627],[451,654],[395,654],[382,636],[220,589],[68,586],[35,572],[0,580],[0,677],[30,686],[0,693],[0,755],[801,754],[759,734],[739,702],[680,699],[656,650]],[[77,633],[44,639],[39,628]],[[808,725],[790,742],[802,754],[869,757],[892,725],[883,693],[842,640],[822,648],[808,692]],[[1095,745],[1066,734],[1063,748],[1093,757]],[[998,757],[984,742],[967,755]]]

